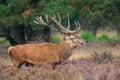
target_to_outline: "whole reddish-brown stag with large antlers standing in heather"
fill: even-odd
[[[50,24],[48,19],[53,21],[58,28],[56,28],[53,24]],[[85,41],[76,35],[80,31],[81,27],[78,21],[74,21],[76,28],[74,30],[70,30],[69,15],[67,28],[62,26],[59,14],[58,20],[56,19],[56,16],[46,15],[45,20],[42,16],[40,16],[37,17],[34,22],[61,32],[64,34],[63,40],[58,44],[24,44],[9,47],[8,53],[14,66],[20,67],[20,64],[23,62],[40,65],[62,62],[68,59],[75,47],[80,44],[85,44]]]

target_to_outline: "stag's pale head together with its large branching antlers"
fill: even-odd
[[[55,31],[59,31],[60,33],[62,33],[64,35],[63,40],[65,40],[70,45],[70,47],[76,47],[80,44],[85,44],[85,40],[83,40],[82,38],[79,38],[77,36],[77,33],[79,33],[80,27],[81,27],[79,21],[74,21],[75,29],[70,30],[69,14],[67,14],[68,25],[66,28],[61,23],[61,17],[59,15],[59,13],[57,16],[58,16],[58,20],[56,19],[56,15],[48,16],[46,14],[45,20],[43,20],[42,16],[40,16],[40,17],[37,17],[34,20],[34,22],[36,24],[47,26]],[[57,28],[53,24],[50,23],[49,19],[51,19],[57,25]]]

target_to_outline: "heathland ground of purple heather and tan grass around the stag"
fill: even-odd
[[[90,42],[55,69],[51,65],[11,67],[6,45],[0,45],[0,80],[120,80],[120,41]]]

